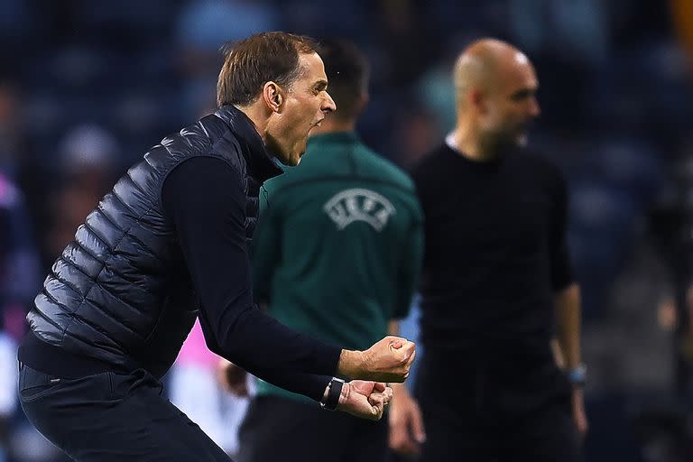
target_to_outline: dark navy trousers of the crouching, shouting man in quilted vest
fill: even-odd
[[[161,393],[143,369],[64,379],[20,364],[26,417],[78,462],[231,460]]]

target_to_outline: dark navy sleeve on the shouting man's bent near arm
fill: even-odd
[[[249,373],[319,400],[341,350],[286,328],[254,305],[245,200],[238,172],[216,158],[183,162],[163,184],[163,208],[199,294],[205,340]]]

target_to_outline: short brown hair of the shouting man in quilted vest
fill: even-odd
[[[269,81],[291,86],[300,76],[299,54],[317,49],[318,44],[310,37],[287,32],[256,33],[226,44],[217,80],[217,106],[248,106]]]

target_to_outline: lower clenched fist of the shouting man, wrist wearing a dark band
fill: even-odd
[[[380,420],[393,399],[393,389],[380,382],[352,380],[344,383],[337,411],[367,420]]]

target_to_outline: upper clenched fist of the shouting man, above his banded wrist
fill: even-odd
[[[342,350],[337,370],[353,379],[401,383],[409,376],[415,356],[413,342],[388,336],[365,351]]]

